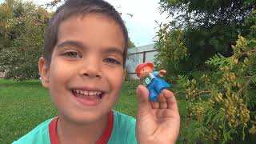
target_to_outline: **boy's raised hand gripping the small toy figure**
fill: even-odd
[[[138,86],[136,137],[139,144],[172,144],[178,138],[180,117],[174,94],[163,90],[166,102],[150,102],[149,90]]]

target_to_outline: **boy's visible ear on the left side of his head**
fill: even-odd
[[[46,64],[46,59],[41,57],[38,61],[38,70],[40,73],[40,78],[42,86],[49,87],[49,67]]]

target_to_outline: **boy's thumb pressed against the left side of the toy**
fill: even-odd
[[[138,98],[138,110],[140,113],[150,113],[151,104],[149,100],[149,90],[145,86],[139,85],[136,90]]]

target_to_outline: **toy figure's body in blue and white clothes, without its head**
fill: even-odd
[[[158,102],[158,95],[162,93],[163,89],[169,88],[170,84],[164,79],[158,77],[159,72],[154,71],[143,79],[143,85],[150,90],[150,101]]]

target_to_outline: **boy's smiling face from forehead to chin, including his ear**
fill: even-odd
[[[118,99],[125,70],[121,27],[102,14],[62,22],[50,67],[39,60],[42,85],[62,118],[96,122]]]

